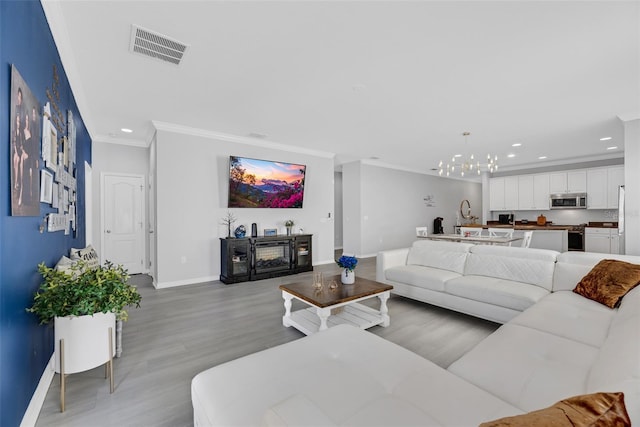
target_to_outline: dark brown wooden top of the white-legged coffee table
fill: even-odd
[[[338,284],[336,289],[329,289],[329,283],[331,283],[332,280],[335,280]],[[280,285],[280,290],[288,292],[309,304],[315,305],[316,307],[325,308],[341,304],[343,302],[353,301],[358,298],[380,294],[393,289],[393,286],[391,285],[385,285],[357,276],[354,284],[343,285],[340,283],[339,274],[336,276],[325,277],[324,286],[320,291],[313,288],[312,281],[313,279],[309,277],[305,282]]]

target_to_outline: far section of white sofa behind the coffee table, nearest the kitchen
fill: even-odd
[[[378,253],[393,293],[505,323],[551,292],[558,252],[418,240]]]

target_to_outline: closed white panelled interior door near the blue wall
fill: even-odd
[[[102,175],[102,261],[130,274],[144,269],[144,183],[143,175]]]

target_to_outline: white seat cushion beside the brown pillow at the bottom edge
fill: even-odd
[[[587,392],[585,378],[597,356],[598,349],[590,345],[507,323],[448,369],[523,411],[533,411]]]

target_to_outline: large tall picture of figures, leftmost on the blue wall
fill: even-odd
[[[11,215],[40,216],[40,104],[11,66]]]

